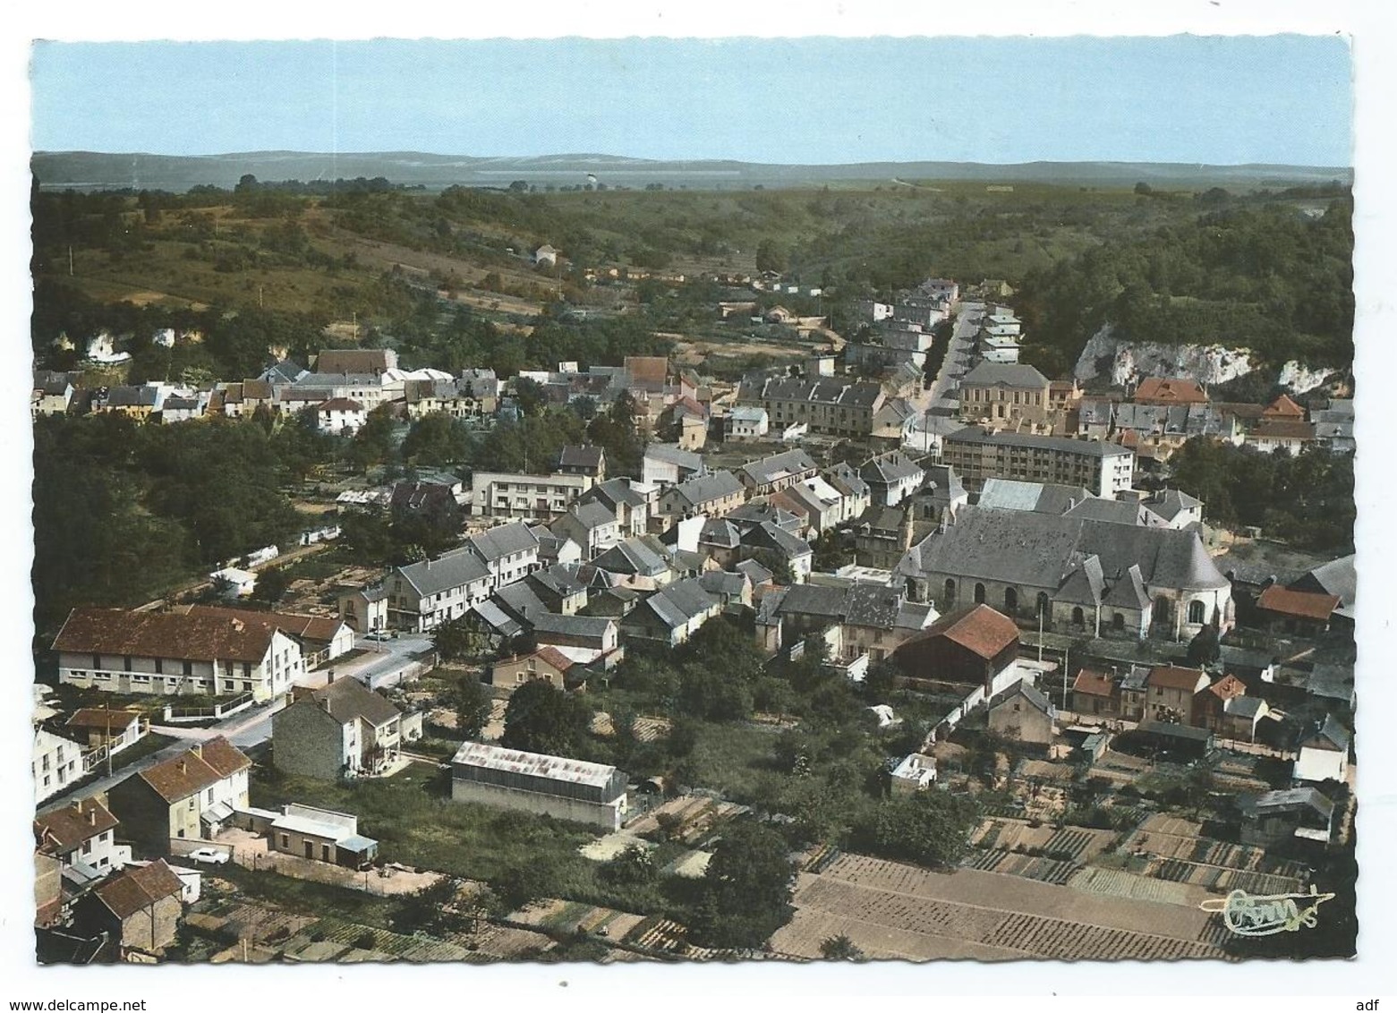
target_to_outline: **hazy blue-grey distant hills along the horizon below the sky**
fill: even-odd
[[[1076,186],[1222,186],[1260,187],[1352,182],[1352,169],[1302,165],[1182,165],[1168,162],[861,162],[852,165],[763,165],[756,162],[664,162],[620,155],[560,154],[478,158],[416,151],[303,152],[251,151],[228,155],[148,155],[95,151],[41,151],[31,162],[45,189],[148,189],[183,191],[193,186],[232,187],[251,173],[260,180],[353,179],[383,176],[394,183],[441,189],[453,184],[507,186],[585,183],[588,175],[608,186],[746,189],[819,186],[837,180],[875,183],[983,180],[985,183],[1067,183]]]

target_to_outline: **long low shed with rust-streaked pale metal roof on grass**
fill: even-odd
[[[465,742],[451,757],[451,798],[620,830],[624,771],[601,763]]]

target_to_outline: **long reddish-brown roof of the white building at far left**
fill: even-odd
[[[81,606],[68,613],[53,650],[74,654],[250,661],[267,657],[274,619],[239,609],[190,608],[187,612],[127,612]]]

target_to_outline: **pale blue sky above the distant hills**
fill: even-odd
[[[1351,163],[1338,36],[39,42],[39,151]]]

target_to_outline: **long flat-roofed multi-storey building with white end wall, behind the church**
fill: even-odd
[[[1115,499],[1134,479],[1134,451],[1101,440],[995,432],[968,426],[942,442],[942,464],[956,469],[971,490],[989,478],[1083,486],[1092,496]]]

